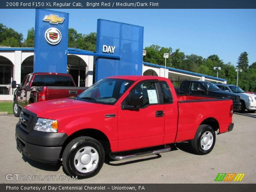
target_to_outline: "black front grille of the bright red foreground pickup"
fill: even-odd
[[[19,118],[19,125],[26,132],[30,132],[34,128],[34,124],[36,123],[36,115],[29,112],[28,110],[22,109]]]

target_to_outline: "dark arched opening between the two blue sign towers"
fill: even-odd
[[[72,75],[76,86],[85,87],[87,64],[82,58],[76,55],[68,55],[67,72]]]

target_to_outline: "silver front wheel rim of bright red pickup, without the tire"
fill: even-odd
[[[74,158],[75,168],[82,173],[88,173],[94,170],[99,162],[98,151],[90,146],[86,146],[76,152]]]

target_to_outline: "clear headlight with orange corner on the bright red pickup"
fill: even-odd
[[[57,132],[58,121],[52,119],[38,118],[34,130],[44,132]]]

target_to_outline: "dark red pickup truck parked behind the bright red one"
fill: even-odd
[[[12,88],[16,88],[16,81]],[[20,109],[27,104],[77,96],[85,87],[76,87],[70,74],[63,73],[31,73],[28,74],[14,91],[13,113],[20,116]]]

